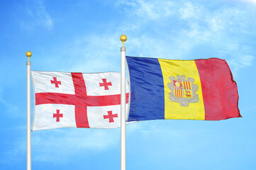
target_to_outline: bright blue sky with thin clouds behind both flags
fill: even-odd
[[[243,118],[127,126],[127,169],[256,169],[256,1],[0,1],[0,169],[26,169],[33,70],[120,72],[127,55],[225,59]],[[33,106],[32,106],[33,109]],[[120,129],[32,132],[33,169],[120,169]]]

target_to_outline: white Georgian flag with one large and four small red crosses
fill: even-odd
[[[31,71],[35,95],[32,130],[118,128],[121,75]],[[128,82],[126,81],[126,114]],[[128,118],[128,115],[126,115]]]

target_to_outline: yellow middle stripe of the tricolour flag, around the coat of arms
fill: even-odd
[[[204,101],[201,89],[201,81],[199,72],[197,71],[196,64],[193,60],[164,60],[158,59],[160,67],[162,69],[162,76],[165,84],[165,119],[195,119],[204,120]],[[171,90],[167,86],[171,80],[169,77],[173,76],[177,79],[177,75],[193,78],[194,84],[199,86],[196,94],[199,95],[199,101],[196,103],[189,103],[189,106],[180,106],[179,103],[171,101],[169,99],[169,93]],[[189,82],[188,82],[189,83]],[[185,84],[185,82],[183,83]],[[191,86],[191,84],[190,84]],[[189,89],[189,84],[187,89]],[[175,93],[174,91],[172,93]],[[175,94],[174,94],[175,96]],[[184,96],[183,96],[184,98]],[[182,98],[180,98],[182,99]]]

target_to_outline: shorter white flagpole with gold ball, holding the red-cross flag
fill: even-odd
[[[30,98],[30,67],[31,62],[29,58],[32,53],[30,51],[26,52],[28,57],[27,65],[27,170],[31,170],[31,98]]]

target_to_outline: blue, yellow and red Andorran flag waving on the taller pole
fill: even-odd
[[[130,75],[128,121],[241,117],[238,88],[225,60],[126,60]]]

